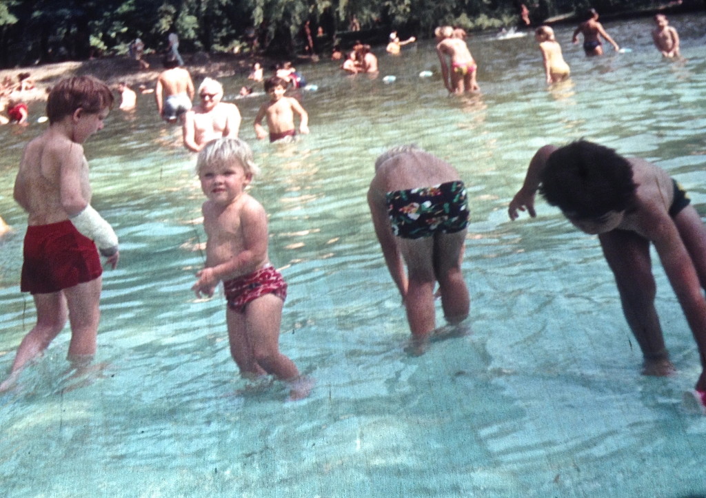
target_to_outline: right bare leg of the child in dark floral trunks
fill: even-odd
[[[470,298],[461,272],[466,231],[441,233],[434,237],[436,279],[441,292],[441,307],[450,324],[468,317]]]

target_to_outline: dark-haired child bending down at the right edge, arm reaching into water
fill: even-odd
[[[678,183],[663,169],[626,158],[585,140],[545,145],[527,169],[508,214],[535,217],[539,190],[578,229],[597,234],[614,273],[623,312],[645,358],[645,375],[669,375],[674,366],[654,307],[650,262],[654,244],[699,350],[702,372],[695,398],[706,403],[706,228]]]

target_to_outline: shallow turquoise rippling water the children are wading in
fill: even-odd
[[[580,137],[668,169],[704,213],[703,18],[671,22],[686,63],[660,59],[648,19],[607,23],[633,51],[602,59],[558,28],[573,78],[553,90],[532,37],[469,41],[474,97],[445,95],[428,42],[378,53],[373,80],[329,61],[303,66],[318,91],[302,94],[312,133],[294,145],[256,142],[263,97],[236,101],[263,166],[252,193],[270,213],[270,257],[289,282],[282,351],[318,380],[301,403],[282,403],[277,384],[242,392],[222,295],[196,302],[189,291],[203,265],[203,195],[177,130],[162,126],[151,95],[136,116],[112,113],[86,144],[94,205],[121,238],[120,266],[104,274],[96,360],[107,367],[74,389],[67,331],[0,396],[5,494],[706,494],[706,418],[681,404],[698,354],[662,269],[658,309],[679,373],[657,379],[639,375],[597,240],[544,203],[531,221],[506,214],[534,150]],[[426,70],[435,74],[419,78]],[[235,95],[245,80],[223,83]],[[25,216],[11,186],[41,130],[0,128],[0,213],[16,228],[0,245],[1,370],[34,322],[18,290]],[[473,332],[421,357],[404,352],[404,310],[365,200],[375,158],[404,142],[457,166],[471,202]]]

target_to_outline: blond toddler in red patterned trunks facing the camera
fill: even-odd
[[[280,353],[280,322],[287,284],[268,257],[267,214],[245,192],[258,173],[253,152],[238,138],[208,142],[196,162],[203,203],[205,268],[196,274],[196,296],[213,296],[223,281],[230,353],[241,374],[274,375],[291,387],[289,399],[309,395],[311,380]]]

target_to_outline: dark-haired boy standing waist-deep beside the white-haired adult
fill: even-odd
[[[304,107],[293,97],[285,97],[287,91],[287,81],[273,76],[265,80],[265,92],[270,96],[270,101],[261,105],[258,115],[255,117],[255,133],[258,140],[268,136],[267,131],[262,126],[263,119],[267,119],[267,126],[270,129],[270,142],[277,140],[293,140],[297,135],[294,128],[294,113],[299,114],[299,133],[309,133],[309,114],[306,114]]]

